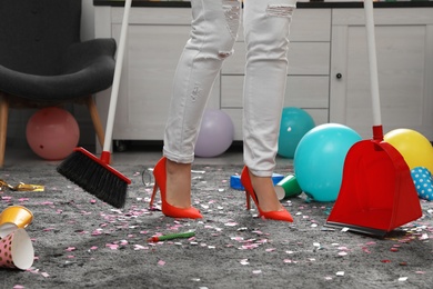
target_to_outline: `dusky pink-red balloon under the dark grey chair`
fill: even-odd
[[[71,113],[52,107],[37,111],[29,119],[26,136],[36,155],[47,160],[62,160],[77,147],[80,129]]]

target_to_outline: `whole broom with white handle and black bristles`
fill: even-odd
[[[113,86],[111,90],[108,112],[105,137],[101,158],[97,158],[83,148],[75,148],[73,152],[58,166],[57,171],[98,199],[115,207],[122,208],[127,200],[128,185],[131,180],[110,167],[111,138],[113,133],[115,106],[118,102],[120,76],[122,70],[129,11],[132,0],[124,4],[123,20],[120,32],[120,43],[114,67]]]

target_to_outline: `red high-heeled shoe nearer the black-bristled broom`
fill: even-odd
[[[203,216],[200,213],[200,211],[193,207],[191,208],[178,208],[174,206],[171,206],[167,202],[167,169],[165,169],[165,162],[167,158],[161,158],[157,166],[153,169],[153,176],[154,176],[154,187],[152,192],[152,198],[150,199],[149,208],[152,208],[153,200],[157,195],[158,188],[161,192],[161,210],[162,213],[167,217],[171,218],[182,218],[182,219],[201,219]]]

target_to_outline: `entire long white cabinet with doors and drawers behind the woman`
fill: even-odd
[[[95,37],[119,39],[123,8],[95,7]],[[113,131],[115,140],[162,140],[172,79],[189,38],[189,8],[133,7]],[[411,128],[433,140],[433,7],[374,10],[384,130]],[[291,27],[284,104],[316,124],[338,122],[371,138],[372,109],[362,8],[298,9]],[[228,112],[242,140],[242,33],[209,107]],[[336,76],[341,74],[341,78]],[[109,93],[105,91],[103,93]],[[109,96],[98,97],[107,119]]]

